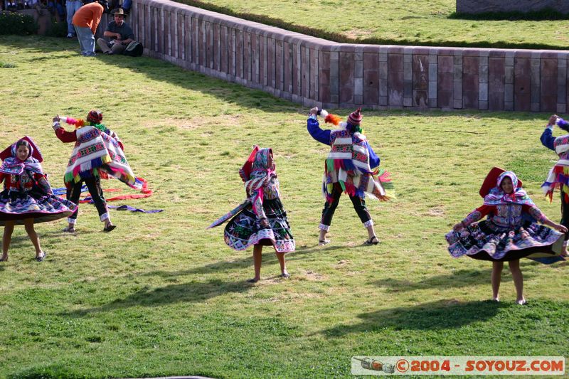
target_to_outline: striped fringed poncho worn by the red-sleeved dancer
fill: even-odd
[[[132,188],[142,188],[142,181],[134,176],[119,143],[96,127],[77,129],[77,142],[65,170],[65,185],[93,175],[112,176]]]

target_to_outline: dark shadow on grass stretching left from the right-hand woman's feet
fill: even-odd
[[[456,329],[475,322],[488,321],[499,313],[499,309],[507,306],[514,305],[494,301],[461,303],[454,299],[445,299],[417,306],[359,314],[358,319],[361,321],[358,324],[338,325],[322,333],[327,337],[337,337],[385,328],[395,331]]]

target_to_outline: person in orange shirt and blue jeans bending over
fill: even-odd
[[[85,4],[73,15],[73,26],[77,33],[81,55],[95,56],[95,33],[101,21],[101,16],[107,7],[106,0]]]

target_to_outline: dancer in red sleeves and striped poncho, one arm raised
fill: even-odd
[[[78,129],[66,132],[60,124],[60,119],[75,125]],[[102,113],[92,110],[87,114],[88,124],[85,124],[83,119],[56,116],[53,118],[53,129],[61,142],[75,142],[63,178],[68,200],[79,203],[81,186],[85,182],[100,220],[105,223],[103,231],[110,232],[116,228],[116,225],[113,225],[110,219],[105,196],[102,193],[101,178],[111,176],[137,189],[142,188],[143,183],[130,169],[117,134],[101,124],[101,121]],[[65,232],[75,233],[78,212],[79,209],[68,218],[69,225],[64,229]]]

